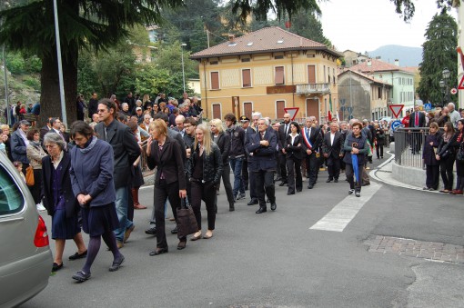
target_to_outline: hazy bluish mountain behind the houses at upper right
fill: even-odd
[[[422,47],[407,47],[400,45],[385,45],[368,52],[370,57],[380,56],[384,62],[395,64],[399,60],[399,66],[419,66],[422,62]]]

